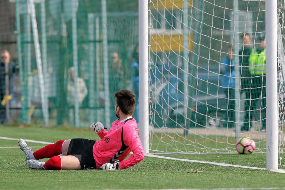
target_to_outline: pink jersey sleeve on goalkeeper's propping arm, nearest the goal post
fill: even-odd
[[[140,141],[139,133],[135,126],[128,125],[123,128],[123,140],[125,145],[130,148],[130,151],[132,151],[133,154],[126,160],[120,162],[120,169],[129,168],[139,163],[144,158],[143,145]]]

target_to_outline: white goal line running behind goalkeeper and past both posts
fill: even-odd
[[[8,138],[8,137],[0,137],[0,139],[5,140],[19,140],[18,138]],[[26,142],[35,142],[40,144],[53,144],[52,142],[44,142],[44,141],[35,141],[31,139],[24,139]],[[213,165],[220,165],[220,166],[228,166],[228,167],[236,167],[236,168],[248,168],[248,169],[257,169],[257,170],[266,170],[266,168],[257,168],[257,167],[250,167],[250,166],[243,166],[243,165],[233,165],[233,164],[225,164],[225,163],[218,163],[218,162],[207,162],[207,161],[200,161],[200,160],[188,160],[188,159],[181,159],[181,158],[172,158],[167,156],[159,156],[159,155],[152,155],[152,154],[145,154],[145,156],[153,157],[153,158],[163,158],[168,160],[179,160],[183,162],[198,162],[203,164],[213,164]],[[278,173],[285,173],[285,170],[270,170],[272,172],[278,172]]]

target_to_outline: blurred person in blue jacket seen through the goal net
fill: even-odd
[[[227,98],[227,113],[226,113],[226,124],[225,126],[232,128],[235,122],[235,89],[234,89],[234,56],[233,46],[228,47],[228,55],[221,61],[220,74],[222,88]]]

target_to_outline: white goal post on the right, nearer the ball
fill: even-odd
[[[266,32],[266,158],[267,169],[278,169],[277,1],[265,1]]]

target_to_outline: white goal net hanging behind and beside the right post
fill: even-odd
[[[284,2],[278,14],[278,129],[284,136]],[[266,152],[265,1],[149,1],[150,152]],[[284,31],[285,32],[285,31]]]

